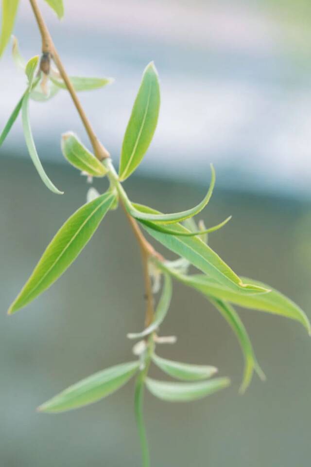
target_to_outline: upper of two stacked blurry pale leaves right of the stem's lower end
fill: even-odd
[[[167,373],[173,378],[186,381],[210,378],[217,373],[217,368],[214,366],[190,365],[189,363],[162,359],[155,354],[153,354],[152,360],[164,373]]]

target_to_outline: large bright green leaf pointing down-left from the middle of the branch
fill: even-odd
[[[105,193],[69,217],[10,306],[9,314],[32,302],[69,268],[96,231],[114,200],[115,196],[111,192]]]

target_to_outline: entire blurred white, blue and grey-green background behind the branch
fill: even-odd
[[[28,59],[40,53],[40,38],[28,1],[20,3],[15,34]],[[80,94],[116,165],[141,73],[155,60],[159,124],[126,182],[130,197],[166,212],[189,208],[205,194],[213,162],[217,185],[203,218],[207,225],[233,219],[210,235],[212,248],[311,317],[311,3],[64,0],[62,22],[39,3],[70,74],[116,79]],[[2,128],[25,77],[9,50],[0,69]],[[87,144],[69,95],[32,103],[31,120],[39,155],[65,195],[39,180],[18,120],[0,149],[0,465],[138,467],[132,383],[79,411],[35,412],[73,382],[132,359],[126,333],[141,329],[144,300],[138,247],[117,211],[60,281],[6,316],[56,230],[86,198],[85,178],[60,151],[69,129]],[[106,181],[95,186],[104,190]],[[254,377],[244,396],[235,336],[203,296],[175,284],[161,331],[178,341],[159,355],[216,365],[232,386],[190,404],[146,395],[153,466],[310,465],[310,340],[297,323],[240,314],[267,375],[266,383]]]

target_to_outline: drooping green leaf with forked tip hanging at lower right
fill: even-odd
[[[209,298],[209,301],[212,305],[214,305],[221,312],[225,320],[229,323],[229,325],[235,332],[240,342],[242,352],[244,354],[244,360],[245,360],[244,375],[243,375],[243,380],[242,380],[242,384],[240,387],[240,392],[243,394],[248,388],[252,380],[254,370],[257,372],[258,376],[262,380],[265,379],[264,373],[261,370],[256,360],[253,347],[252,347],[252,343],[248,337],[245,326],[242,323],[235,309],[231,305],[229,305],[228,303],[222,300],[216,300],[216,299]]]

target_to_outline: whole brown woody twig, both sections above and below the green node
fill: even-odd
[[[86,132],[88,134],[89,140],[93,146],[94,153],[96,157],[102,161],[106,158],[109,157],[108,151],[104,148],[103,144],[100,143],[98,140],[97,136],[95,135],[93,128],[91,127],[91,124],[86,117],[86,113],[84,109],[81,106],[81,103],[78,99],[78,96],[76,94],[76,91],[74,90],[69,76],[62,64],[62,61],[59,57],[59,54],[54,46],[52,37],[49,33],[49,30],[44,22],[44,19],[41,15],[41,12],[39,10],[39,7],[37,5],[36,0],[29,0],[30,4],[32,6],[32,9],[34,11],[35,19],[41,34],[42,38],[42,53],[43,54],[50,54],[52,59],[54,60],[58,71],[65,82],[67,89],[69,90],[69,93],[71,95],[71,98],[73,100],[73,103],[80,115],[80,118],[82,120],[82,123],[86,129]],[[152,323],[153,318],[154,318],[154,297],[152,293],[152,284],[151,284],[151,279],[150,279],[150,274],[149,274],[149,258],[152,256],[158,257],[160,260],[163,260],[162,256],[155,251],[153,246],[146,240],[146,238],[143,236],[141,233],[141,230],[138,227],[137,221],[130,216],[130,214],[126,211],[124,204],[122,200],[120,200],[121,206],[125,212],[125,215],[134,231],[134,234],[136,236],[136,239],[138,241],[138,245],[140,247],[141,251],[141,259],[142,259],[142,266],[143,266],[143,274],[144,274],[144,282],[145,282],[145,296],[146,296],[146,317],[145,317],[145,325],[149,326],[150,323]]]

